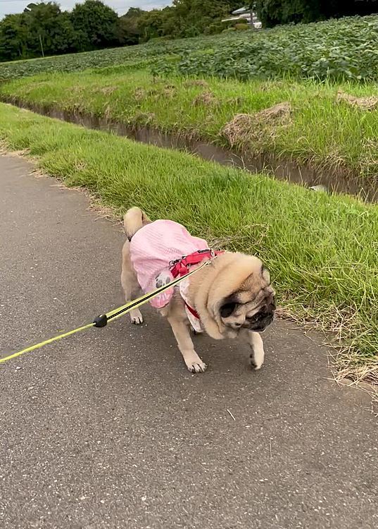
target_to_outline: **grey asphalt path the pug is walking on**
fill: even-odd
[[[1,355],[121,305],[118,225],[0,158]],[[0,365],[2,529],[375,528],[377,418],[294,324],[199,337],[190,375],[145,309]]]

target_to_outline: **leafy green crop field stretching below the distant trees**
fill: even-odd
[[[376,80],[378,16],[158,41],[0,64],[0,80],[52,71],[149,63],[155,74]]]

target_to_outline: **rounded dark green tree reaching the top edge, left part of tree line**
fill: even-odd
[[[76,4],[70,18],[80,51],[118,44],[118,15],[100,0],[86,0],[84,4]]]

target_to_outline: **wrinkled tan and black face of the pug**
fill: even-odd
[[[226,327],[263,332],[273,321],[276,309],[275,291],[270,285],[266,267],[254,272],[238,291],[222,301],[220,317]]]

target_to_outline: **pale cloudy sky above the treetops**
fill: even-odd
[[[0,18],[8,13],[21,13],[27,4],[30,4],[32,0],[0,0]],[[34,0],[35,1],[35,0]],[[81,4],[78,0],[57,0],[64,11],[70,11],[75,4]],[[105,4],[111,6],[118,15],[126,13],[130,7],[140,7],[141,9],[153,9],[169,6],[172,4],[171,0],[105,0]]]

